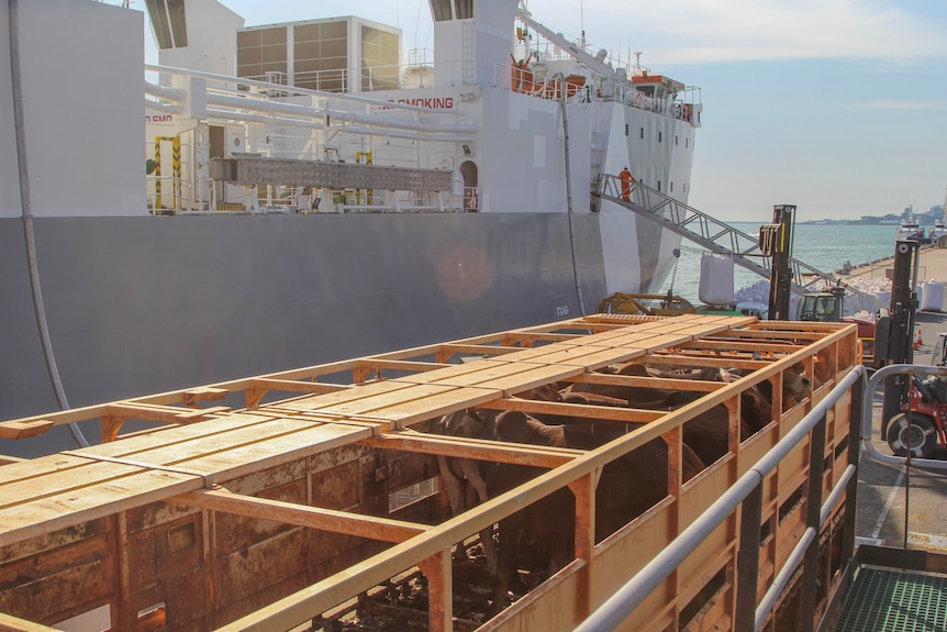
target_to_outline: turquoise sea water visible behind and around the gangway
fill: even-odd
[[[759,234],[761,224],[734,222],[731,225],[755,237]],[[820,271],[844,279],[844,276],[836,275],[835,271],[846,262],[853,267],[858,267],[876,259],[893,257],[896,232],[898,226],[893,225],[796,224],[792,239],[792,256]],[[700,263],[704,252],[698,244],[681,240],[681,256],[678,258],[676,270],[665,280],[661,293],[672,289],[675,295],[697,303],[700,289]],[[879,265],[878,270],[872,274],[876,277],[883,277],[884,267]],[[887,267],[890,267],[890,264]],[[918,279],[931,276],[925,273],[926,270],[918,269]],[[751,286],[762,278],[739,265],[734,265],[735,290]]]

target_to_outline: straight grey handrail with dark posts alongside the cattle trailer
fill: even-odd
[[[800,564],[803,565],[803,594],[813,603],[806,608],[800,608],[801,612],[815,612],[816,592],[816,566],[818,553],[820,526],[832,514],[833,507],[846,495],[847,501],[853,502],[856,498],[858,478],[855,476],[858,464],[858,429],[861,428],[862,397],[865,389],[866,369],[856,366],[846,375],[838,385],[833,388],[806,414],[802,421],[787,433],[772,450],[766,453],[756,465],[744,474],[729,489],[726,490],[698,520],[684,529],[664,551],[658,553],[651,562],[628,580],[622,588],[615,591],[602,606],[592,612],[578,628],[576,632],[603,632],[617,630],[642,602],[656,590],[668,576],[680,566],[687,557],[697,551],[698,546],[706,540],[725,520],[740,508],[740,540],[737,552],[737,566],[742,578],[749,580],[737,585],[736,613],[734,629],[738,631],[759,630],[769,617],[777,599],[782,590],[789,585]],[[804,442],[810,435],[810,461],[811,469],[809,480],[822,480],[825,459],[825,435],[826,413],[829,407],[849,390],[854,390],[851,397],[851,409],[849,415],[849,454],[848,467],[838,484],[832,489],[823,503],[822,485],[809,485],[809,497],[806,502],[806,529],[800,537],[788,562],[775,577],[762,599],[757,603],[756,578],[759,570],[759,545],[762,510],[764,481],[780,462]],[[855,546],[855,511],[846,511],[846,543],[843,555],[850,558]],[[814,621],[801,621],[799,630],[812,630]]]

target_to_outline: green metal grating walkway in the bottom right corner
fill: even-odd
[[[947,577],[861,567],[834,632],[945,632]]]

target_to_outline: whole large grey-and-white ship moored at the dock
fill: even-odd
[[[670,271],[679,237],[595,186],[686,202],[699,91],[515,0],[431,0],[406,65],[355,16],[0,7],[0,419],[575,318]]]

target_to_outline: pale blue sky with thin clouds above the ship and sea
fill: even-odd
[[[427,0],[222,2],[247,26],[354,14],[401,27],[404,48],[434,47]],[[947,0],[532,0],[528,9],[570,38],[584,29],[592,51],[623,60],[642,52],[653,73],[700,88],[689,203],[703,212],[768,222],[773,204],[796,204],[798,221],[858,219],[945,201]]]

